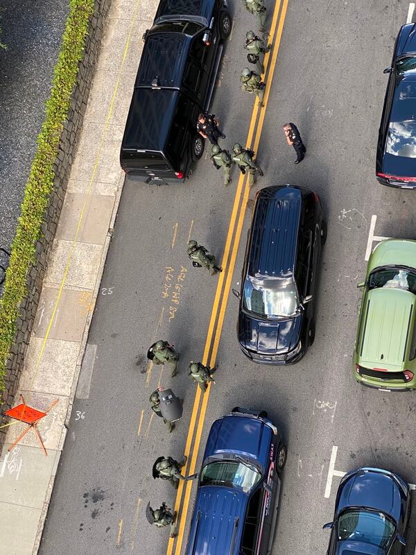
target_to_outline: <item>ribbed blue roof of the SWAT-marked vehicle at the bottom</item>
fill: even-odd
[[[248,499],[247,494],[231,488],[198,488],[187,555],[228,554],[234,529],[236,533],[232,554],[237,555]]]

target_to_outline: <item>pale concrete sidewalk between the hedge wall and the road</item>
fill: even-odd
[[[153,0],[113,0],[110,8],[19,387],[37,409],[59,402],[38,427],[48,456],[33,430],[8,452],[24,425],[8,427],[0,456],[0,555],[33,555],[40,545],[123,188],[119,148],[141,37],[155,8]]]

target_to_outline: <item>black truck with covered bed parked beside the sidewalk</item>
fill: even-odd
[[[184,181],[204,151],[196,131],[209,108],[223,40],[226,0],[162,0],[144,49],[125,123],[120,163],[145,182]]]

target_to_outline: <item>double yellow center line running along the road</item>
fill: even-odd
[[[263,128],[263,121],[264,121],[264,117],[265,117],[265,114],[266,114],[266,107],[267,107],[267,104],[268,104],[268,96],[269,96],[269,93],[270,93],[273,71],[274,71],[274,68],[275,68],[275,65],[276,65],[276,61],[277,61],[277,53],[279,51],[279,44],[280,44],[280,40],[281,40],[281,33],[283,31],[284,20],[285,20],[285,17],[286,17],[286,10],[287,10],[287,7],[288,7],[288,0],[283,0],[279,25],[277,26],[277,17],[279,15],[280,5],[281,5],[281,1],[277,0],[276,5],[275,5],[275,11],[273,13],[273,18],[272,18],[272,26],[271,26],[271,29],[270,29],[270,36],[274,37],[275,29],[277,27],[276,40],[275,41],[272,40],[273,48],[272,48],[272,56],[271,56],[271,63],[270,63],[270,67],[272,69],[271,69],[271,75],[269,76],[269,80],[268,80],[268,86],[266,87],[266,94],[265,94],[265,98],[264,98],[264,106],[260,110],[260,119],[259,119],[259,123],[257,125],[256,137],[254,139],[254,151],[257,151],[257,146],[259,145],[260,136],[261,136],[261,130]],[[264,65],[265,65],[266,71],[267,71],[267,65],[268,65],[268,60],[269,60],[268,56],[269,56],[269,53],[266,54],[266,57],[265,57],[265,60],[264,60]],[[255,105],[254,105],[254,108],[253,108],[253,112],[252,112],[252,121],[250,122],[248,140],[246,142],[247,146],[250,146],[250,144],[252,142],[252,136],[254,134],[254,128],[255,128],[254,124],[256,122],[257,112],[258,112],[258,108],[257,108],[257,101],[256,101]],[[241,212],[239,214],[239,219],[237,221],[236,234],[235,234],[235,238],[234,238],[234,248],[231,251],[232,254],[231,254],[231,259],[230,259],[230,262],[229,262],[229,267],[227,267],[227,260],[228,260],[230,248],[231,248],[231,245],[232,245],[232,239],[233,239],[232,236],[234,234],[234,223],[236,221],[236,218],[237,218],[237,215],[238,215],[238,212],[239,212],[238,209],[239,209],[239,203],[240,203],[240,200],[241,200],[241,198],[240,198],[241,189],[243,188],[244,183],[245,183],[245,189],[244,189],[244,193],[243,193],[243,202],[241,204]],[[226,272],[223,271],[223,273],[220,273],[220,277],[218,279],[218,285],[217,285],[217,293],[218,293],[218,291],[220,293],[220,291],[222,291],[223,282],[225,280],[225,274],[226,274],[227,279],[226,279],[225,288],[224,288],[224,291],[223,291],[223,300],[222,300],[221,305],[220,305],[220,313],[218,315],[218,323],[217,323],[217,327],[216,327],[216,334],[214,336],[214,345],[213,345],[212,353],[211,353],[210,366],[215,365],[216,354],[218,352],[220,332],[221,332],[221,328],[222,328],[223,321],[224,321],[225,307],[227,305],[227,300],[228,300],[228,296],[229,296],[229,289],[231,287],[232,275],[233,275],[233,271],[234,271],[234,264],[236,262],[236,251],[238,250],[239,241],[240,241],[240,237],[241,237],[241,230],[242,230],[242,227],[243,227],[243,219],[244,219],[244,214],[245,214],[245,209],[246,209],[246,205],[247,205],[247,199],[248,199],[249,191],[250,191],[250,187],[248,187],[248,180],[245,180],[244,176],[240,176],[239,185],[237,187],[237,192],[236,192],[236,198],[234,200],[232,218],[231,218],[230,226],[229,226],[229,234],[227,235],[227,241],[226,241],[226,244],[225,244],[223,262],[221,264],[221,266],[223,266],[223,268],[225,268],[227,271]],[[212,336],[212,334],[214,332],[214,324],[215,324],[215,320],[216,320],[216,305],[218,305],[218,302],[219,302],[219,295],[218,295],[218,298],[216,296],[216,298],[214,300],[213,311],[211,313],[211,321],[209,323],[208,337],[210,335]],[[209,348],[210,348],[210,343],[207,341],[207,343],[205,345],[205,352],[204,352],[204,357],[202,359],[202,364],[206,364],[207,357],[208,357],[208,354],[209,354]],[[208,384],[207,391],[205,391],[205,394],[203,395],[203,398],[202,398],[202,406],[201,406],[201,409],[200,409],[198,427],[197,427],[197,430],[196,430],[196,438],[195,438],[195,441],[194,441],[194,444],[193,444],[193,454],[192,454],[191,463],[190,463],[190,466],[189,466],[189,474],[193,474],[195,472],[196,459],[198,457],[198,451],[199,451],[199,446],[200,446],[200,438],[201,438],[201,434],[202,434],[202,426],[203,426],[203,423],[205,421],[205,413],[207,411],[207,403],[208,403],[208,400],[209,400],[210,390],[211,390],[211,382]],[[198,391],[200,391],[199,388],[198,388]],[[198,391],[197,391],[197,395],[198,395]],[[185,450],[184,454],[186,454],[186,455],[188,454],[186,452],[186,450]],[[182,481],[181,481],[181,484],[182,484]],[[183,536],[184,536],[184,527],[185,527],[185,523],[186,523],[188,508],[189,508],[189,499],[191,497],[191,488],[192,488],[192,483],[191,483],[191,481],[189,481],[189,482],[187,482],[187,484],[185,486],[184,502],[183,502],[183,506],[182,506],[182,515],[180,517],[179,529],[177,531],[177,543],[176,543],[176,547],[175,547],[175,555],[180,555],[180,552],[181,552],[181,549],[182,549],[182,542],[183,542]],[[178,490],[178,495],[177,495],[177,501],[178,501],[178,497],[180,497],[179,490]],[[176,506],[179,506],[179,505],[180,505],[180,499],[179,499],[179,502],[175,503],[175,510],[176,510]],[[167,550],[166,555],[171,555],[172,550],[173,550],[173,540],[169,540],[168,550]]]

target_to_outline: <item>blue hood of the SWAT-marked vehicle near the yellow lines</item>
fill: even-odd
[[[224,416],[211,426],[204,460],[215,454],[235,453],[250,456],[267,468],[271,443],[272,429],[261,420]]]

